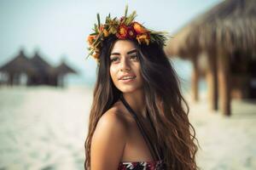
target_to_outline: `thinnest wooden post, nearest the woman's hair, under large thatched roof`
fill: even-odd
[[[198,101],[199,95],[198,95],[198,84],[199,84],[199,69],[198,69],[198,62],[197,62],[197,56],[195,55],[192,58],[193,63],[193,71],[192,71],[192,98],[195,102]]]

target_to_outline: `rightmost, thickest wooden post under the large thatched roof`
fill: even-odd
[[[218,49],[218,83],[221,111],[225,116],[230,116],[230,56],[222,49]]]

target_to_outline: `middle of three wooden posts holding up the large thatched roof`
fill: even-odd
[[[217,56],[214,52],[208,52],[207,55],[207,86],[208,99],[212,110],[218,110],[218,74],[217,74]]]

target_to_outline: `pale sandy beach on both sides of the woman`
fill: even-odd
[[[209,111],[205,94],[189,119],[206,170],[256,169],[256,103],[232,101],[233,115]],[[0,169],[83,169],[90,88],[0,87]]]

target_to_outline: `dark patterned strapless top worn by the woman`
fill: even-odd
[[[121,161],[118,170],[164,170],[164,161]]]

